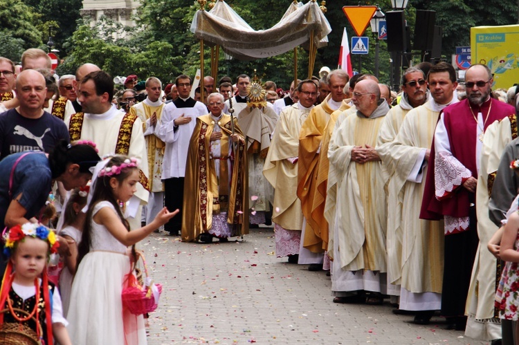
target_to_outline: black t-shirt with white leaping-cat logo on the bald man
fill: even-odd
[[[70,141],[65,123],[46,111],[37,119],[24,118],[16,109],[0,114],[0,160],[22,151],[48,152],[62,139]]]

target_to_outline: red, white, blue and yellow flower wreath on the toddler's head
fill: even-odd
[[[60,243],[56,241],[56,234],[44,225],[37,223],[25,223],[24,225],[15,225],[9,229],[9,232],[3,235],[6,245],[3,248],[3,254],[10,257],[15,245],[20,241],[24,241],[26,236],[46,241],[50,247],[51,253],[57,253]]]

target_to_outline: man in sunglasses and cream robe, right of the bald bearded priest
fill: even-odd
[[[385,167],[388,169],[390,178],[388,185],[388,200],[398,199],[400,189],[406,182],[396,173],[396,162],[391,158],[391,149],[394,138],[399,133],[403,119],[411,109],[423,105],[429,97],[426,76],[417,67],[408,68],[401,78],[402,96],[399,104],[393,106],[388,115],[385,116],[376,151],[381,156]],[[391,285],[389,292],[392,296],[400,295],[401,282],[401,254],[402,254],[402,231],[401,231],[402,203],[388,203],[388,282]]]

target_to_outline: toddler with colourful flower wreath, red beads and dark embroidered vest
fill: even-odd
[[[48,281],[46,264],[59,243],[43,225],[26,223],[11,227],[3,254],[9,257],[0,292],[0,324],[24,324],[43,344],[71,344],[62,315],[60,292]],[[14,272],[13,272],[14,270]],[[21,313],[19,310],[24,310]]]

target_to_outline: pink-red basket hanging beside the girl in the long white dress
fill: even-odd
[[[143,254],[140,254],[140,258],[143,259],[145,277],[147,278],[148,269]],[[142,275],[142,272],[140,274]],[[151,286],[144,286],[142,277],[138,280],[132,273],[127,274],[127,279],[128,287],[123,288],[121,294],[123,306],[134,315],[152,313],[158,304],[155,301]],[[162,293],[162,285],[153,283],[151,285],[156,286],[158,296],[160,296]]]

